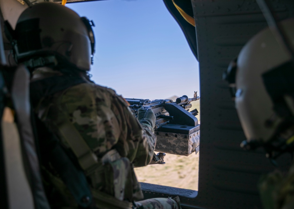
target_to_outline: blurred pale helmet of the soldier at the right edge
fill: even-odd
[[[282,21],[281,26],[290,40],[288,44],[294,47],[294,19]],[[275,141],[282,146],[293,141],[293,64],[291,54],[269,28],[251,38],[240,51],[235,63],[235,107],[247,142]]]

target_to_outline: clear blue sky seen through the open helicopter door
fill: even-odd
[[[199,92],[198,62],[162,0],[66,4],[95,23],[90,73],[123,97],[166,99]]]

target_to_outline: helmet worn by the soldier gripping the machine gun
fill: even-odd
[[[35,4],[17,21],[13,34],[15,58],[18,63],[42,58],[45,64],[39,65],[53,58],[58,63],[90,70],[95,47],[92,25],[92,21],[61,4]]]

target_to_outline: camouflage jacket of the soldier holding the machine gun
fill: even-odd
[[[92,188],[115,196],[111,190],[116,188],[109,184],[123,181],[125,191],[122,199],[133,201],[143,198],[133,165],[149,164],[153,157],[156,136],[153,128],[142,126],[138,122],[127,103],[114,90],[90,82],[81,83],[42,98],[35,112],[64,146],[70,148],[58,126],[59,121],[66,117],[96,154],[98,161],[105,153],[115,149],[124,159],[122,164],[130,164],[126,166],[129,171],[119,171],[119,165],[118,173],[112,174],[114,178],[126,175],[123,180],[109,180],[108,172],[113,171],[109,171],[106,166],[92,172],[88,175]]]

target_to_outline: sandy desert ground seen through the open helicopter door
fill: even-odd
[[[192,102],[190,111],[195,108],[200,110],[199,100]],[[196,117],[200,124],[199,115]],[[140,182],[198,190],[199,154],[192,153],[189,156],[166,154],[164,157],[166,164],[135,168],[135,173]]]

